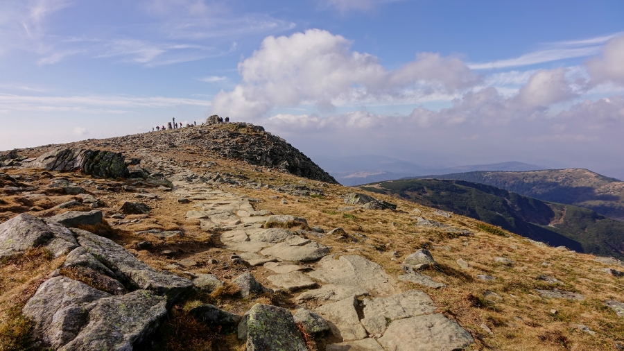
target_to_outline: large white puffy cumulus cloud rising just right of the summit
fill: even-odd
[[[276,105],[334,105],[405,101],[413,96],[454,93],[480,82],[457,58],[420,53],[396,71],[378,58],[349,50],[349,40],[311,29],[291,36],[266,37],[259,50],[239,63],[241,85],[220,92],[213,112],[257,117]],[[236,113],[248,113],[237,115]]]

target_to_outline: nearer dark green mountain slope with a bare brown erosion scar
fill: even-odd
[[[469,216],[551,246],[624,258],[624,223],[589,209],[462,180],[394,180],[363,188]]]

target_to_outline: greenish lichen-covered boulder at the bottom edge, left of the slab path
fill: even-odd
[[[239,339],[247,339],[247,351],[307,351],[291,312],[270,305],[256,304],[243,316]]]

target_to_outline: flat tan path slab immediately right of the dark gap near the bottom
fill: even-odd
[[[433,300],[419,290],[410,290],[388,298],[365,298],[364,318],[368,334],[383,334],[388,320],[399,320],[435,311]]]

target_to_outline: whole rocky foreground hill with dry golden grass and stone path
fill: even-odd
[[[256,126],[3,157],[0,350],[624,349],[623,262],[355,192]]]

